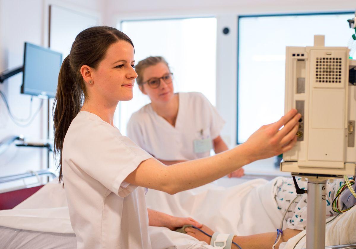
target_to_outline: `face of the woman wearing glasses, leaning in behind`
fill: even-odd
[[[156,65],[147,67],[143,71],[142,82],[147,82],[152,78],[161,78],[164,75],[169,74],[169,68],[163,62],[159,62]],[[160,79],[160,85],[156,89],[152,89],[147,83],[140,86],[143,94],[147,94],[152,103],[164,104],[172,99],[173,94],[173,83],[166,83],[163,79]]]

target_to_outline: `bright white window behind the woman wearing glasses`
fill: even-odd
[[[215,105],[216,18],[122,21],[118,27],[132,39],[136,63],[163,56],[173,72],[175,92],[202,92]],[[115,123],[122,134],[131,114],[150,102],[136,84],[133,99],[119,104]]]

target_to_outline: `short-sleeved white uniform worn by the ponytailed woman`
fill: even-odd
[[[145,189],[124,181],[151,157],[95,114],[74,118],[62,169],[78,249],[151,248]]]

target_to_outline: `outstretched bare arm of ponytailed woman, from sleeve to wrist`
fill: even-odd
[[[168,167],[157,159],[151,158],[143,161],[125,181],[136,186],[175,194],[219,179],[250,161],[244,144],[213,157],[186,161]]]

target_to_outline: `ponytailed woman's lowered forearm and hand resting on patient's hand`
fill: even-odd
[[[166,213],[158,212],[147,208],[148,212],[148,225],[155,227],[167,227],[171,230],[176,230],[179,227],[183,227],[186,224],[190,224],[196,227],[201,227],[202,225],[195,221],[193,218],[180,218],[168,215]]]

